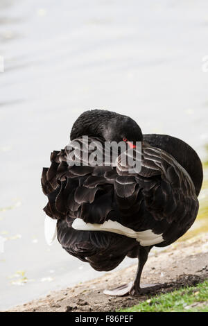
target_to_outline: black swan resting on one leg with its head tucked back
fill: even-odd
[[[128,173],[121,153],[116,164],[85,164],[83,152],[88,143],[84,144],[83,136],[101,144],[123,141],[133,152],[140,141],[141,171]],[[150,286],[140,285],[150,249],[182,237],[198,214],[203,179],[198,155],[175,137],[143,135],[130,117],[107,110],[81,114],[70,139],[80,144],[81,153],[70,159],[67,146],[53,151],[51,166],[42,172],[42,189],[48,198],[44,212],[50,216],[45,222],[48,241],[57,235],[62,248],[96,271],[111,271],[126,256],[137,257],[135,281],[105,294],[150,291]],[[81,164],[70,165],[78,157]]]

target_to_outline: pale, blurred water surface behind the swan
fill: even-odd
[[[206,0],[1,0],[0,309],[102,275],[44,240],[42,166],[85,110],[193,146],[205,183],[186,237],[208,229],[207,36]]]

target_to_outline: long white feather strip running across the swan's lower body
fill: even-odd
[[[81,218],[76,218],[72,223],[72,228],[82,231],[107,231],[125,235],[126,237],[135,238],[141,246],[153,246],[157,243],[164,241],[162,234],[155,234],[152,230],[134,231],[126,228],[116,221],[105,221],[103,224],[85,223]]]

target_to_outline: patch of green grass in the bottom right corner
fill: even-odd
[[[208,280],[196,286],[156,295],[119,312],[208,312]]]

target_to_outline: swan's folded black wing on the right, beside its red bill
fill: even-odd
[[[135,148],[135,157],[137,151],[139,149]],[[121,157],[118,157],[117,173],[122,178],[128,178],[131,171],[137,181],[136,186],[132,182],[132,190],[139,187],[146,209],[155,220],[168,223],[175,221],[179,227],[190,228],[198,213],[196,190],[190,175],[171,155],[148,144],[144,144],[140,158],[141,169],[134,171],[134,167],[122,164]],[[125,188],[120,187],[119,190],[119,196],[125,197]]]

